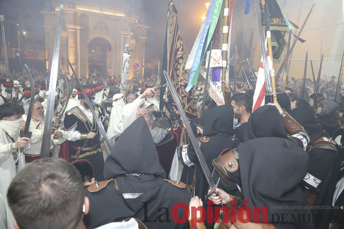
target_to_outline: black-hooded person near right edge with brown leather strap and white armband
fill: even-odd
[[[303,99],[298,98],[298,100]],[[300,184],[304,195],[313,206],[330,206],[343,151],[315,121],[310,108],[297,103],[297,107],[289,114],[308,131],[310,137],[310,146],[307,148],[310,158],[309,169]],[[329,228],[330,219],[327,216],[330,216],[331,212],[332,209],[324,208],[313,210],[314,214],[318,214],[317,218],[319,219],[321,216],[323,221],[317,221],[317,228]]]

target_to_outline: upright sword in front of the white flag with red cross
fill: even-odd
[[[263,34],[263,25],[262,25],[262,19],[261,19],[261,12],[260,12],[260,0],[256,0],[256,14],[258,19],[258,31],[259,31],[259,38],[260,38],[260,50],[261,55],[263,57],[263,67],[265,71],[265,91],[266,94],[268,94],[268,98],[271,103],[273,103],[273,97],[272,97],[272,84],[271,84],[271,77],[270,77],[270,71],[269,71],[269,65],[268,65],[268,57],[266,55],[266,46],[264,41],[264,34]]]

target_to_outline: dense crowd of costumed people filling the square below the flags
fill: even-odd
[[[302,79],[290,78],[283,89],[278,81],[277,101],[266,97],[253,112],[255,81],[225,81],[226,104],[217,106],[201,80],[194,88],[197,112],[189,120],[193,133],[187,133],[183,111],[170,93],[157,89],[156,77],[129,79],[121,90],[120,75],[94,72],[80,76],[83,89],[70,87],[67,98],[73,75],[59,71],[49,104],[50,70],[30,72],[33,86],[24,70],[2,75],[0,228],[343,224],[343,139],[336,135],[343,127],[343,92],[335,77],[322,79],[318,93],[309,79],[304,89]],[[50,151],[41,152],[47,109],[53,109]],[[209,171],[202,169],[190,135],[197,137]],[[207,173],[219,181],[214,190]],[[262,207],[266,212],[254,211]]]

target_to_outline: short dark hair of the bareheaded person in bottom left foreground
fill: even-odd
[[[21,229],[73,229],[83,214],[80,173],[63,159],[36,160],[21,170],[7,192]]]

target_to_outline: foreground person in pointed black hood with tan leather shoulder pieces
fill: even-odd
[[[92,206],[84,217],[86,227],[135,217],[149,229],[187,228],[188,222],[177,224],[171,214],[176,203],[189,204],[191,192],[182,182],[173,184],[165,177],[147,123],[139,117],[123,131],[106,158],[107,180],[85,191]],[[178,216],[183,217],[182,208]]]

